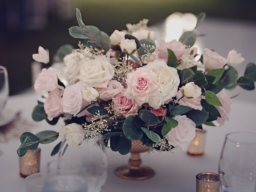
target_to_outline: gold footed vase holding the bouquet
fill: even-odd
[[[140,140],[132,140],[132,148],[130,150],[129,165],[116,168],[116,175],[130,180],[142,180],[154,176],[155,172],[148,166],[141,166],[140,153],[147,152],[150,147],[142,145]]]

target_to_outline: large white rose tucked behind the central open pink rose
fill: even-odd
[[[180,84],[177,70],[169,67],[164,61],[157,59],[143,67],[148,68],[157,75],[157,81],[161,84],[159,91],[164,98],[164,103],[170,102],[172,97],[176,95]]]

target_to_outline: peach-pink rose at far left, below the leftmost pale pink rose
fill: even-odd
[[[59,116],[62,114],[63,109],[61,106],[61,96],[63,90],[55,89],[50,91],[48,94],[48,98],[44,102],[44,110],[47,114],[48,120],[52,121],[54,117]]]

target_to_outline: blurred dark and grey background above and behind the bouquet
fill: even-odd
[[[0,65],[8,69],[10,95],[31,87],[32,54],[39,45],[50,50],[50,60],[62,44],[76,47],[78,39],[68,34],[76,25],[75,8],[81,10],[85,24],[109,35],[126,29],[126,23],[148,18],[149,26],[158,28],[158,38],[166,40],[181,35],[175,23],[182,17],[166,20],[170,14],[206,12],[198,28],[198,34],[207,35],[198,38],[199,53],[208,47],[226,57],[235,48],[246,58],[238,70],[256,62],[255,0],[0,0]],[[183,30],[192,22],[193,16],[188,17]]]

